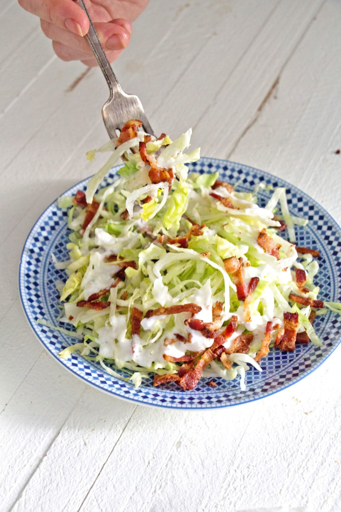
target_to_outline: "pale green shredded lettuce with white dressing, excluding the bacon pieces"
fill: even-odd
[[[58,329],[82,340],[65,348],[60,356],[69,358],[78,352],[89,360],[99,361],[104,371],[117,378],[122,377],[115,368],[125,369],[126,379],[138,387],[150,373],[175,373],[183,364],[166,360],[164,354],[177,358],[203,351],[212,345],[213,339],[185,324],[186,318],[192,316],[190,312],[145,318],[140,336],[132,336],[132,308],[138,308],[144,316],[149,309],[195,303],[202,309],[194,318],[211,323],[212,306],[221,302],[219,332],[233,315],[238,317],[237,331],[226,338],[224,347],[229,348],[245,332],[252,332],[254,337],[247,353],[231,354],[231,369],[215,359],[203,375],[226,380],[240,375],[241,388],[245,389],[245,372],[249,367],[261,370],[254,358],[260,350],[267,322],[283,327],[285,311],[298,312],[299,332],[306,330],[312,343],[321,344],[308,319],[310,307],[303,308],[289,300],[290,293],[303,294],[290,268],[295,266],[306,271],[307,296],[316,298],[319,289],[314,287],[313,277],[319,265],[310,254],[298,255],[292,245],[294,224],[304,225],[305,220],[290,216],[285,188],[274,189],[266,207],[260,208],[256,194],[232,191],[224,184],[213,190],[219,179],[217,172],[188,176],[186,163],[199,159],[199,148],[185,152],[191,133],[189,130],[174,142],[168,136],[147,142],[147,153],[156,159],[158,167],[172,169],[176,176],[171,187],[168,182],[150,181],[150,166],[139,153],[139,143],[146,135],[143,131],[117,148],[115,141],[109,141],[99,150],[88,152],[89,160],[97,152],[110,152],[110,156],[88,181],[86,201],[91,203],[95,199],[100,207],[85,231],[82,226],[86,208],[74,204],[72,197],[59,198],[60,208],[70,208],[68,226],[72,232],[67,244],[70,258],[65,262],[54,260],[66,272],[60,296],[64,307],[60,322],[62,326],[70,326],[70,330]],[[97,190],[121,156],[124,165],[118,178],[109,187]],[[264,186],[257,187],[260,188]],[[211,193],[230,200],[230,205],[226,206],[224,200]],[[147,196],[149,202],[143,201]],[[277,214],[278,206],[281,215]],[[128,218],[126,209],[130,213]],[[277,219],[287,224],[290,242],[278,236],[279,223],[274,211]],[[174,243],[172,239],[184,238],[192,223],[199,225],[199,231],[194,231],[185,244],[181,240]],[[257,243],[262,229],[281,244],[279,260]],[[259,278],[248,301],[251,321],[245,316],[244,302],[238,300],[233,275],[224,267],[223,260],[231,257],[242,259],[246,286],[251,278]],[[113,261],[115,258],[120,266]],[[128,266],[123,262],[129,262]],[[115,275],[119,271],[121,280]],[[113,283],[117,286],[110,288]],[[79,301],[87,301],[89,297],[93,300],[91,295],[105,289],[108,291],[97,298],[106,303],[104,309],[77,306]],[[325,303],[325,306],[324,311],[341,311],[338,303]],[[76,332],[72,332],[72,326]],[[271,346],[276,333],[272,334]]]

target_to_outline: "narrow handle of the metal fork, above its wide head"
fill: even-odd
[[[110,62],[107,59],[107,56],[105,55],[105,52],[104,52],[103,47],[98,38],[95,27],[93,25],[92,19],[90,18],[89,13],[87,12],[85,3],[83,2],[83,0],[75,0],[75,4],[79,5],[79,7],[81,7],[83,9],[85,14],[89,18],[89,24],[90,24],[89,31],[84,36],[84,38],[88,42],[89,47],[92,49],[92,51],[96,57],[96,60],[99,64],[99,67],[101,68],[102,73],[107,81],[107,84],[108,84],[108,87],[110,90],[110,97],[112,97],[115,92],[122,93],[121,86],[120,86],[119,82],[117,81],[115,73],[112,71],[112,68],[110,66]]]

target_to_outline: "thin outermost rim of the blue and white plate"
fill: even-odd
[[[300,188],[298,188],[296,185],[292,185],[291,183],[289,183],[287,180],[281,178],[280,176],[277,176],[277,175],[274,175],[274,174],[271,174],[265,170],[262,170],[262,169],[259,169],[258,167],[253,167],[251,165],[248,165],[248,164],[243,164],[241,162],[235,162],[233,160],[226,160],[226,159],[222,159],[222,158],[214,158],[214,157],[200,157],[200,160],[201,161],[208,161],[208,162],[217,162],[217,163],[223,163],[223,164],[229,164],[229,165],[234,165],[234,166],[242,166],[244,169],[247,170],[247,172],[252,172],[252,171],[257,171],[257,173],[260,173],[261,175],[264,176],[264,178],[269,178],[271,179],[272,181],[275,179],[278,179],[280,180],[283,185],[285,186],[285,188],[288,188],[290,190],[293,190],[297,193],[299,193],[301,196],[305,196],[312,204],[314,204],[317,209],[320,209],[322,210],[323,214],[325,217],[329,218],[334,224],[335,224],[335,227],[338,228],[338,230],[341,231],[341,227],[340,225],[336,222],[336,220],[333,218],[333,216],[320,204],[318,203],[315,199],[313,199],[311,196],[309,196],[307,193],[305,193],[303,190],[301,190]],[[119,170],[119,168],[122,167],[122,165],[124,164],[117,164],[115,166],[113,166],[108,173],[117,173],[117,171]],[[194,168],[194,172],[195,172],[195,168]],[[70,195],[70,192],[71,190],[73,190],[75,187],[77,187],[78,185],[81,185],[83,186],[84,183],[86,183],[89,178],[91,176],[87,177],[87,178],[84,178],[82,179],[81,181],[75,183],[74,185],[72,185],[71,187],[69,187],[67,190],[65,190],[62,194],[60,194],[60,196],[58,197],[63,197],[63,196],[67,196],[68,194]],[[315,370],[317,370],[317,368],[319,368],[327,359],[328,357],[335,351],[335,349],[340,345],[341,343],[341,331],[339,332],[339,339],[338,339],[338,342],[333,345],[326,354],[324,354],[319,360],[317,360],[310,368],[307,368],[301,375],[299,375],[298,377],[295,377],[292,381],[288,382],[288,383],[283,383],[283,385],[279,386],[277,389],[273,389],[273,390],[268,390],[266,392],[264,392],[262,395],[260,396],[252,396],[252,397],[249,397],[247,400],[245,401],[223,401],[223,402],[220,402],[220,403],[217,403],[217,402],[214,402],[214,403],[210,403],[210,404],[206,404],[206,406],[202,407],[201,404],[195,404],[195,407],[189,407],[188,405],[186,407],[184,407],[183,404],[179,404],[179,403],[175,403],[175,404],[171,404],[169,402],[163,402],[163,403],[160,403],[160,398],[156,398],[156,401],[155,402],[146,402],[144,401],[143,399],[138,399],[137,397],[135,396],[132,396],[132,397],[129,397],[129,396],[122,396],[121,394],[118,394],[116,392],[116,389],[113,388],[112,390],[107,390],[105,388],[103,388],[100,384],[97,384],[97,383],[94,383],[90,380],[88,380],[87,378],[83,377],[82,375],[80,375],[77,371],[77,369],[73,369],[69,366],[67,366],[64,362],[63,359],[61,359],[60,357],[58,357],[58,354],[54,353],[52,351],[52,349],[48,346],[48,344],[46,344],[46,342],[44,342],[44,340],[42,339],[42,336],[40,335],[40,332],[35,329],[35,326],[33,325],[33,323],[31,322],[31,319],[29,317],[29,314],[28,314],[28,311],[27,311],[27,306],[25,306],[24,304],[24,300],[23,300],[23,295],[24,295],[24,290],[25,290],[25,284],[24,284],[24,258],[25,258],[25,255],[26,255],[26,250],[28,249],[28,241],[29,241],[29,238],[31,236],[31,233],[33,232],[33,230],[35,229],[35,227],[39,224],[39,221],[40,219],[46,214],[46,212],[53,206],[53,205],[56,205],[57,207],[57,201],[58,201],[58,197],[56,199],[54,199],[54,201],[52,201],[42,212],[41,214],[39,215],[39,217],[37,218],[37,220],[34,222],[33,226],[31,227],[31,229],[29,230],[28,232],[28,235],[26,237],[26,240],[25,240],[25,243],[24,243],[24,246],[22,247],[22,251],[21,251],[21,254],[20,254],[20,261],[19,261],[19,266],[18,266],[18,289],[19,289],[19,297],[20,297],[20,303],[21,303],[21,307],[22,307],[22,310],[24,311],[24,314],[25,314],[25,317],[27,319],[27,322],[31,328],[31,330],[33,331],[34,335],[36,336],[36,338],[39,340],[40,344],[43,346],[43,348],[54,358],[56,359],[57,361],[59,361],[59,363],[62,365],[63,368],[65,368],[66,370],[69,370],[71,372],[72,375],[78,377],[78,379],[80,379],[81,381],[83,381],[84,383],[86,383],[87,385],[91,386],[92,388],[94,389],[97,389],[97,390],[100,390],[104,393],[106,393],[107,395],[110,395],[110,396],[114,396],[118,399],[121,399],[121,400],[124,400],[126,402],[129,402],[129,403],[135,403],[136,405],[141,405],[141,406],[146,406],[146,407],[150,407],[150,408],[161,408],[161,409],[176,409],[176,410],[185,410],[185,411],[204,411],[204,410],[216,410],[216,409],[225,409],[227,407],[234,407],[234,406],[242,406],[242,405],[246,405],[246,404],[249,404],[251,402],[254,402],[254,401],[257,401],[257,400],[261,400],[263,398],[266,398],[268,396],[271,396],[271,395],[275,395],[276,393],[279,393],[281,391],[284,391],[285,389],[288,389],[290,388],[291,386],[293,386],[294,384],[300,382],[302,379],[308,377],[309,375],[311,375]],[[334,263],[334,260],[332,259],[333,263]],[[338,289],[337,287],[335,287],[336,289]],[[104,371],[104,370],[103,370]],[[120,381],[121,379],[118,379],[116,377],[111,377],[111,379],[115,380],[115,381]],[[159,390],[160,392],[160,390]],[[193,404],[194,406],[194,404]]]

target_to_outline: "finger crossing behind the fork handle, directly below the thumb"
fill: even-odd
[[[113,19],[109,23],[95,23],[95,29],[105,50],[122,50],[129,45],[130,33],[125,25],[119,23],[125,20]],[[128,22],[125,22],[128,24]],[[61,29],[52,25],[52,23],[40,20],[43,33],[54,41],[61,42],[63,45],[92,54],[87,41],[84,37],[73,34],[68,30]],[[129,24],[128,24],[129,25]]]

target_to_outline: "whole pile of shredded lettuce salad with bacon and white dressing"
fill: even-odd
[[[321,345],[315,315],[338,305],[317,299],[319,253],[294,245],[294,224],[305,221],[290,216],[285,189],[261,208],[256,191],[238,192],[218,173],[188,175],[199,159],[199,148],[185,153],[191,130],[172,142],[141,126],[128,121],[118,140],[88,152],[110,156],[85,193],[59,198],[71,230],[70,259],[54,259],[67,274],[57,283],[59,329],[79,338],[60,356],[77,351],[120,378],[115,369],[125,369],[135,386],[151,373],[154,386],[183,390],[202,376],[239,375],[244,390],[270,347]],[[117,179],[98,190],[120,157]]]

